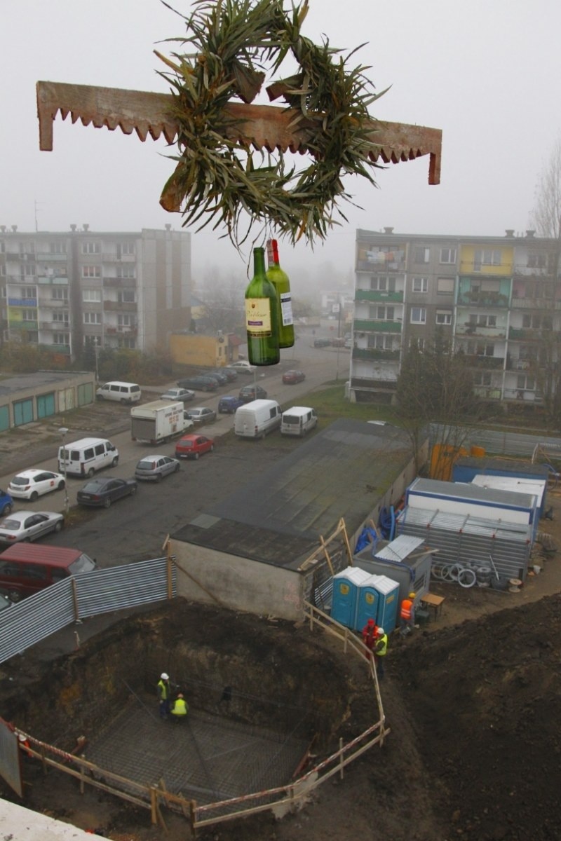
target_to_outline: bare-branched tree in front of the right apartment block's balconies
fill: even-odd
[[[410,436],[417,468],[432,425],[432,474],[448,478],[447,468],[471,434],[479,407],[465,355],[453,352],[442,331],[422,350],[413,342],[401,364],[396,396],[397,415]]]

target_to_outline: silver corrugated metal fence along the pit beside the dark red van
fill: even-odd
[[[0,612],[0,663],[73,622],[172,599],[173,558],[151,558],[71,576]]]

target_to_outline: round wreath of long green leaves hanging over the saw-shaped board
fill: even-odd
[[[308,0],[292,3],[289,12],[283,0],[194,3],[190,17],[180,14],[188,36],[168,39],[187,46],[188,53],[172,53],[174,61],[156,53],[172,70],[160,75],[172,85],[180,152],[172,156],[177,167],[161,204],[183,207],[183,226],[198,224],[201,230],[214,221],[216,230],[225,225],[236,248],[257,221],[293,243],[303,236],[311,245],[316,238],[324,240],[340,224],[336,211],[347,221],[338,203],[351,202],[352,196],[341,177],[363,176],[376,186],[372,170],[379,165],[368,159],[374,146],[368,106],[385,92],[373,93],[363,75],[368,68],[348,69],[356,50],[342,57],[328,40],[315,45],[304,38],[300,30]],[[313,161],[300,171],[282,151],[255,151],[226,137],[240,122],[225,109],[227,103],[232,98],[251,103],[267,68],[276,73],[289,54],[299,71],[273,82],[267,93],[294,110],[294,128],[305,127]]]

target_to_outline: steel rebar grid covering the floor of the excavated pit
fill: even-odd
[[[292,734],[192,707],[185,721],[161,721],[156,706],[152,712],[135,699],[93,738],[87,759],[144,785],[163,780],[167,791],[207,803],[286,784],[306,748]]]

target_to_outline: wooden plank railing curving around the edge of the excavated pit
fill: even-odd
[[[161,559],[162,561],[165,559]],[[344,770],[348,764],[361,756],[374,745],[380,746],[384,738],[389,734],[389,728],[385,727],[384,710],[380,696],[378,677],[375,664],[371,659],[371,653],[356,635],[348,628],[343,627],[330,616],[320,611],[308,602],[304,602],[304,614],[310,622],[310,632],[320,628],[333,637],[336,637],[343,646],[343,650],[351,653],[352,656],[360,658],[367,669],[367,674],[373,682],[373,690],[376,697],[377,716],[366,730],[357,738],[344,743],[339,739],[339,746],[336,751],[310,767],[310,748],[304,754],[299,767],[294,771],[293,779],[286,785],[269,788],[264,791],[248,792],[246,795],[207,803],[201,806],[194,800],[189,800],[181,794],[167,791],[163,780],[158,785],[143,785],[135,780],[130,780],[123,775],[114,773],[100,767],[98,764],[87,761],[82,756],[76,755],[79,750],[77,745],[76,753],[56,748],[53,745],[42,742],[28,733],[22,733],[25,738],[21,749],[33,759],[38,759],[43,764],[46,773],[48,768],[53,768],[62,773],[71,775],[79,781],[80,791],[83,793],[86,785],[92,785],[101,791],[130,801],[136,806],[144,807],[151,812],[151,822],[161,823],[165,826],[161,814],[161,806],[166,806],[174,812],[182,813],[188,818],[191,829],[196,833],[197,828],[215,823],[232,820],[236,817],[247,817],[248,815],[266,810],[279,810],[278,813],[291,811],[304,797],[310,795],[310,791],[329,780],[334,775],[342,779]],[[0,722],[4,727],[10,727],[6,722]],[[13,728],[12,728],[13,729]],[[17,738],[19,731],[13,731],[13,738]],[[8,734],[7,734],[8,735]],[[304,771],[305,769],[305,771]]]

